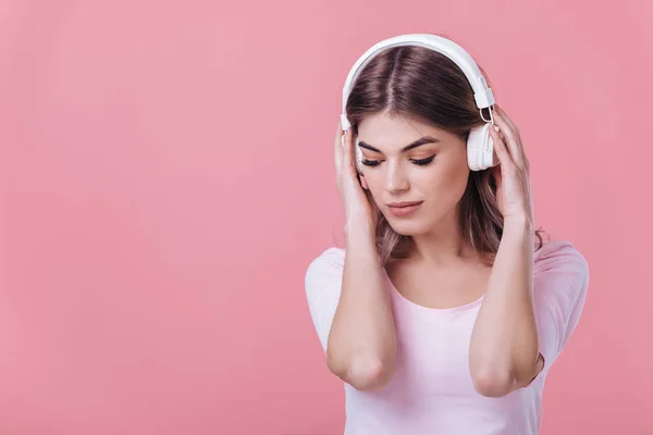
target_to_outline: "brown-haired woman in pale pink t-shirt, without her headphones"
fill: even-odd
[[[534,229],[519,130],[495,104],[480,113],[460,67],[420,46],[378,53],[346,116],[334,142],[346,246],[306,272],[345,383],[345,434],[537,434],[589,269]],[[467,139],[488,119],[498,164],[470,171]]]

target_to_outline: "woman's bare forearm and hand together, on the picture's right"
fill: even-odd
[[[475,388],[491,397],[528,385],[543,368],[533,303],[530,164],[519,130],[498,105],[494,109],[496,128],[490,134],[500,165],[493,174],[504,227],[469,348]]]

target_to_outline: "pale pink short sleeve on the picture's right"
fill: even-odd
[[[535,252],[533,303],[540,353],[546,372],[580,321],[589,285],[583,256],[566,240],[551,241]]]

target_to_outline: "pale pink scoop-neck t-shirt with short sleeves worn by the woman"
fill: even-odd
[[[328,248],[306,272],[310,314],[322,349],[335,313],[345,250]],[[543,371],[504,397],[480,395],[469,374],[471,331],[483,297],[460,307],[416,304],[392,285],[396,369],[375,391],[345,386],[345,435],[535,435],[549,369],[575,330],[586,300],[589,268],[569,241],[550,241],[533,254],[534,306]]]

